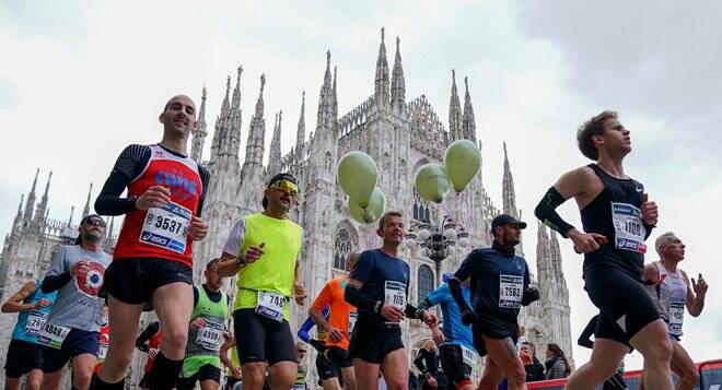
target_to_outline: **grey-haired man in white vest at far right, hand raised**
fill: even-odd
[[[692,317],[698,317],[704,308],[707,282],[699,274],[697,281],[689,277],[678,264],[685,259],[685,244],[677,236],[667,232],[657,237],[654,245],[660,261],[648,264],[659,276],[654,285],[647,285],[647,292],[656,305],[660,317],[667,324],[672,340],[672,370],[679,376],[677,389],[694,389],[699,382],[699,370],[695,367],[687,351],[680,344],[682,326],[685,319],[685,306]],[[650,387],[651,388],[651,387]]]

